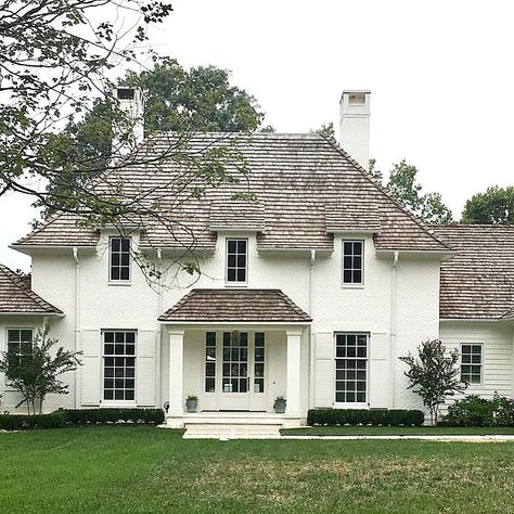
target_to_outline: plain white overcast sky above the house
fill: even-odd
[[[254,94],[280,132],[338,127],[343,89],[370,89],[371,153],[406,158],[460,217],[489,185],[512,185],[511,0],[175,0],[152,43],[184,66],[213,64]],[[0,262],[36,214],[0,198]]]

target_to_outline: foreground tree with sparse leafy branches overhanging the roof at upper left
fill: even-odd
[[[31,195],[43,208],[74,213],[95,228],[114,226],[120,234],[134,223],[159,223],[174,233],[174,213],[159,213],[155,202],[159,188],[183,202],[244,174],[233,145],[191,155],[184,131],[164,149],[125,154],[124,162],[113,155],[105,119],[112,116],[123,129],[120,141],[130,139],[133,120],[113,101],[110,77],[115,69],[145,69],[149,57],[158,62],[146,29],[170,12],[167,0],[0,0],[0,198],[8,191]],[[214,75],[222,86],[223,77]],[[235,111],[233,119],[247,117]],[[72,138],[62,137],[67,123]],[[164,164],[180,166],[180,181],[124,187],[126,166],[157,171]],[[179,269],[187,257],[194,261],[191,247],[184,244]]]

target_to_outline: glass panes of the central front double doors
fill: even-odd
[[[248,333],[223,332],[223,393],[248,391]]]

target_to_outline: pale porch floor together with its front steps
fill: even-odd
[[[198,412],[167,416],[166,428],[185,428],[184,439],[273,439],[299,417],[272,412]]]

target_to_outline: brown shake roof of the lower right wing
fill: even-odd
[[[514,227],[433,227],[458,254],[441,262],[442,319],[514,317]]]

